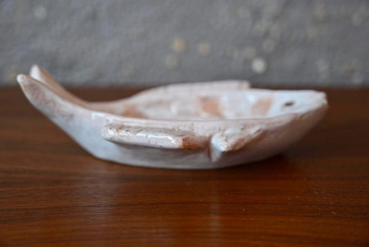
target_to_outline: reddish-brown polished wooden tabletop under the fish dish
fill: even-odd
[[[0,246],[369,246],[369,90],[325,92],[325,119],[282,155],[178,171],[98,160],[1,89]]]

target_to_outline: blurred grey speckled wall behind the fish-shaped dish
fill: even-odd
[[[0,33],[3,85],[369,85],[368,0],[2,0]]]

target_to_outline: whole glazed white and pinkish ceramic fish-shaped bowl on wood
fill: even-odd
[[[87,102],[42,68],[17,77],[40,110],[91,155],[141,167],[217,169],[255,162],[296,143],[327,110],[323,92],[252,89],[242,81],[156,87]]]

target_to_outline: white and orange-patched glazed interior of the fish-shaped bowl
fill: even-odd
[[[275,117],[303,110],[318,94],[309,90],[239,90],[133,96],[119,112],[126,117],[211,120]]]

